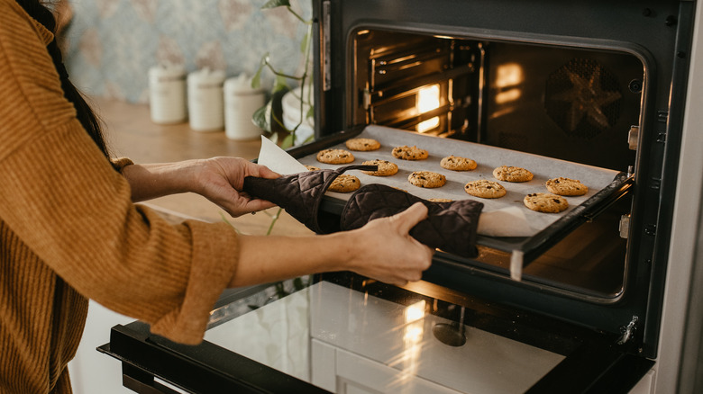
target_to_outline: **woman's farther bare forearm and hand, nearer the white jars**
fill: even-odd
[[[213,157],[176,163],[125,166],[123,176],[132,189],[132,201],[145,201],[176,193],[198,193],[233,217],[274,206],[251,199],[242,189],[244,177],[277,178],[266,166],[239,157]]]

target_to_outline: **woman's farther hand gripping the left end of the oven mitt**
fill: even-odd
[[[239,157],[213,157],[199,160],[195,171],[196,193],[215,202],[233,217],[275,206],[242,193],[246,176],[274,179],[280,175]]]

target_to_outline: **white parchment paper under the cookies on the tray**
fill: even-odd
[[[349,174],[357,176],[361,184],[387,184],[412,193],[423,199],[446,198],[452,200],[473,199],[484,203],[484,210],[479,219],[478,233],[488,237],[531,237],[537,232],[550,226],[554,221],[580,203],[587,201],[595,193],[610,184],[618,174],[617,171],[594,166],[585,166],[578,163],[558,160],[550,157],[542,157],[515,150],[489,147],[471,142],[456,139],[441,139],[432,136],[411,133],[404,130],[391,129],[382,126],[370,125],[361,132],[358,138],[377,139],[381,143],[379,150],[370,152],[352,151],[355,159],[352,164],[361,164],[366,160],[384,159],[395,163],[399,170],[392,176],[371,176],[361,173],[361,171],[350,171]],[[275,148],[269,146],[273,145]],[[259,163],[270,168],[288,168],[290,171],[299,172],[299,168],[293,170],[295,166],[280,166],[278,163],[289,162],[292,158],[285,151],[275,144],[262,144],[262,152]],[[264,145],[267,151],[264,152]],[[391,155],[391,151],[399,146],[417,146],[427,149],[429,157],[425,160],[400,160]],[[279,152],[275,151],[278,149]],[[346,149],[343,143],[328,148]],[[574,147],[578,148],[578,147]],[[271,152],[273,150],[275,153]],[[287,157],[278,157],[279,155]],[[440,166],[443,157],[450,155],[459,157],[469,157],[478,163],[478,167],[473,171],[451,171]],[[277,158],[278,157],[278,158]],[[263,158],[263,160],[262,160]],[[295,160],[295,159],[293,159]],[[317,166],[319,168],[337,168],[347,165],[327,165],[317,161],[315,155],[301,157],[297,160],[303,165]],[[525,183],[502,182],[507,194],[499,199],[481,199],[473,197],[464,192],[464,185],[477,179],[489,179],[496,181],[493,177],[493,169],[498,166],[520,166],[530,170],[534,174],[534,179]],[[274,169],[281,173],[280,170]],[[424,189],[416,187],[407,182],[407,176],[414,171],[433,171],[446,176],[447,183],[440,188]],[[284,173],[281,173],[284,174]],[[285,173],[290,174],[290,172]],[[548,193],[544,183],[551,178],[564,176],[571,179],[578,179],[581,183],[589,186],[589,193],[578,197],[566,197],[569,201],[569,209],[561,213],[542,213],[529,210],[523,203],[525,194],[528,193]],[[349,200],[352,193],[333,193],[326,195],[342,201]]]

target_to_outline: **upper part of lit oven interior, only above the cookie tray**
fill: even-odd
[[[354,124],[635,164],[644,64],[631,53],[370,29],[352,42]]]

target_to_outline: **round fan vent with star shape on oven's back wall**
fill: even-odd
[[[566,133],[591,139],[616,123],[622,96],[597,61],[574,58],[547,79],[545,109]]]

